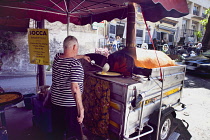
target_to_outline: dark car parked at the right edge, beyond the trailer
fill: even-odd
[[[182,62],[191,73],[210,75],[210,58],[206,56],[188,57]]]

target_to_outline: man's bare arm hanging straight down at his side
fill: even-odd
[[[71,83],[71,89],[73,96],[76,101],[77,111],[78,111],[78,122],[81,124],[84,119],[84,107],[82,104],[82,93],[80,91],[78,83]]]

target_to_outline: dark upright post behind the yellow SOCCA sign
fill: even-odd
[[[44,28],[44,20],[37,21],[37,27],[43,29]],[[43,86],[46,84],[46,71],[45,71],[45,66],[44,65],[37,65],[37,70],[38,70],[38,86]]]

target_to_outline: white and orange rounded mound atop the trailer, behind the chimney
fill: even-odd
[[[162,51],[136,48],[136,57],[137,59],[134,59],[134,62],[137,67],[151,69],[158,67],[176,66],[175,61]]]

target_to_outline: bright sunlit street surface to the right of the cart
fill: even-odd
[[[210,134],[210,78],[186,75],[182,102],[187,109],[177,113],[177,118],[189,123],[191,140],[209,140]]]

